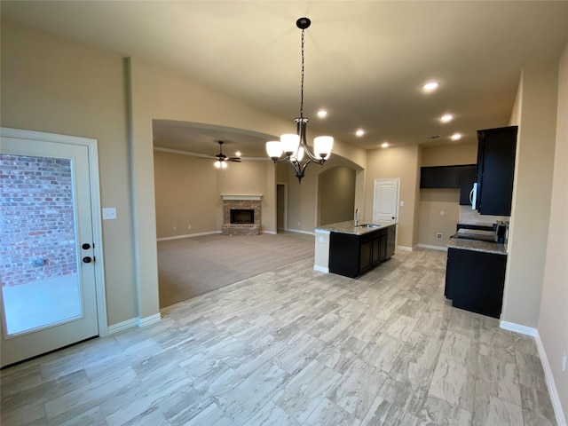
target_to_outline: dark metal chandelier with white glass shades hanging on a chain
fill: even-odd
[[[300,90],[300,116],[294,120],[296,122],[296,134],[287,133],[281,135],[280,140],[266,142],[266,153],[272,159],[272,162],[274,164],[277,162],[292,164],[298,182],[302,182],[305,170],[311,162],[323,166],[334,145],[334,138],[331,136],[313,138],[312,154],[306,141],[305,128],[308,119],[304,117],[304,31],[306,28],[310,28],[310,24],[312,24],[312,21],[308,18],[296,20],[296,27],[302,30],[302,86]],[[304,155],[307,156],[305,160]]]

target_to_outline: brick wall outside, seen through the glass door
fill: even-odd
[[[71,162],[2,154],[0,193],[2,285],[76,273]]]

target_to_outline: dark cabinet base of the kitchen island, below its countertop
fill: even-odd
[[[371,233],[331,233],[329,272],[355,278],[394,255],[396,225]]]

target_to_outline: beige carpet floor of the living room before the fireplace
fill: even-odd
[[[158,242],[160,307],[177,304],[297,260],[312,258],[312,235],[201,235]]]

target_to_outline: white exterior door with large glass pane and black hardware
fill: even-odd
[[[2,366],[99,335],[87,146],[2,137]]]

